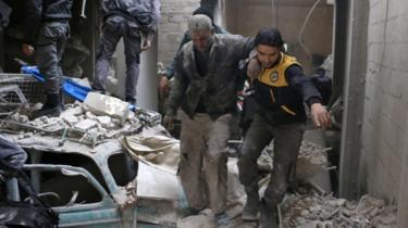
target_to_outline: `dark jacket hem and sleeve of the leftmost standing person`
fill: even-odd
[[[73,0],[26,0],[27,16],[25,20],[25,40],[35,43],[39,27],[45,22],[65,22],[72,17]]]

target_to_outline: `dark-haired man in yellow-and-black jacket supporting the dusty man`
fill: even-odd
[[[238,161],[239,180],[247,193],[243,219],[258,219],[261,208],[261,227],[273,228],[277,226],[276,205],[295,177],[296,159],[305,131],[304,102],[311,109],[316,127],[329,127],[331,121],[321,104],[319,91],[305,76],[300,64],[283,52],[284,41],[280,31],[274,28],[261,29],[254,42],[257,54],[250,60],[247,74],[252,79],[258,107]],[[260,201],[257,160],[272,139],[274,156],[271,181]]]

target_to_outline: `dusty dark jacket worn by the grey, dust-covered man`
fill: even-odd
[[[215,34],[212,37],[206,75],[198,73],[191,41],[177,53],[168,115],[175,115],[181,106],[193,117],[199,103],[213,119],[235,111],[237,66],[252,49],[252,40],[237,35]]]

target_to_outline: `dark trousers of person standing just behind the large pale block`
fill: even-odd
[[[136,103],[136,87],[140,63],[139,26],[122,16],[110,16],[103,23],[102,37],[95,65],[92,88],[106,90],[109,67],[118,42],[123,38],[126,59],[125,100]]]

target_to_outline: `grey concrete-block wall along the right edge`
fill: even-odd
[[[362,165],[368,192],[397,203],[408,227],[408,1],[369,2]]]

